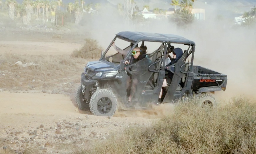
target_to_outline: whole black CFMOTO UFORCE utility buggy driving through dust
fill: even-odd
[[[113,42],[121,39],[127,43],[126,48],[107,56],[111,52]],[[147,57],[126,65],[124,61],[132,55],[133,49],[142,42],[161,44],[155,51],[147,53]],[[131,45],[132,46],[131,46]],[[174,71],[166,66],[166,55],[174,46],[183,45],[182,57],[175,63]],[[149,49],[149,48],[148,48]],[[215,91],[225,91],[227,76],[201,66],[194,66],[195,42],[172,34],[142,33],[132,31],[119,32],[109,44],[99,61],[88,62],[81,75],[82,84],[76,93],[76,102],[81,110],[90,110],[93,115],[113,116],[117,109],[147,109],[158,103],[166,71],[174,73],[172,81],[162,93],[163,103],[184,100],[196,96],[199,104],[215,106],[212,97]],[[132,74],[131,68],[143,61],[149,61],[136,84],[136,95],[132,102],[127,102],[129,89],[127,79]],[[130,82],[132,83],[132,82]],[[131,86],[131,85],[130,85]],[[128,86],[128,87],[130,87]]]

